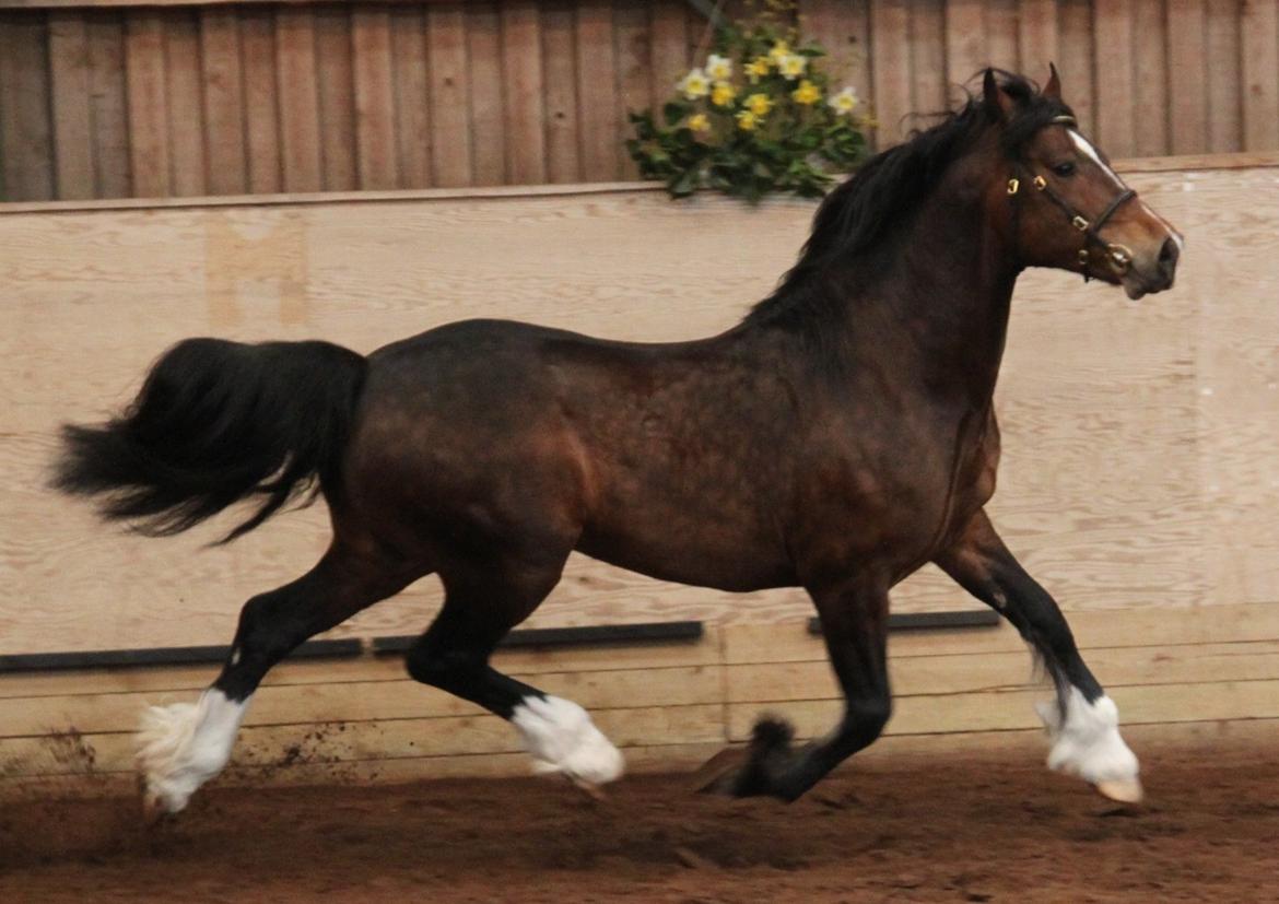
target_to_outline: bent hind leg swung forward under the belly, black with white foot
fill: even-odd
[[[489,665],[498,642],[558,583],[563,560],[544,566],[468,568],[443,574],[444,607],[405,659],[423,684],[510,721],[538,771],[595,786],[622,775],[620,752],[572,701],[542,693]]]

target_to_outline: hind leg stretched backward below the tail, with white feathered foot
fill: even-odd
[[[244,604],[217,680],[196,703],[152,707],[143,716],[138,767],[147,807],[177,813],[223,770],[249,697],[271,666],[418,575],[335,545],[307,574]]]

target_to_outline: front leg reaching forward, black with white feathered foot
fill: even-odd
[[[985,511],[936,564],[1012,621],[1042,659],[1056,685],[1056,702],[1036,706],[1053,739],[1049,767],[1078,775],[1115,800],[1140,800],[1137,757],[1119,736],[1114,701],[1083,664],[1056,602],[1008,551]]]

